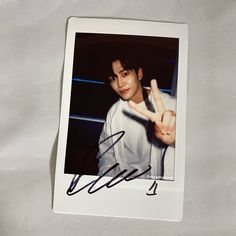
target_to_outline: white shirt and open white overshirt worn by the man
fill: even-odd
[[[161,97],[165,108],[175,111],[176,100],[165,93],[161,93]],[[145,105],[143,103],[140,106]],[[153,106],[155,108],[155,104]],[[135,168],[140,173],[146,170],[148,165],[151,165],[150,173],[146,173],[142,178],[162,177],[161,168],[164,149],[157,138],[149,135],[150,128],[147,125],[147,119],[133,111],[126,101],[120,99],[113,104],[107,114],[100,142],[120,131],[125,131],[125,134],[115,145],[113,144],[117,141],[117,136],[109,138],[99,145],[99,175],[102,175],[115,163],[119,163],[118,167],[112,169],[106,175],[115,176],[124,169],[131,171]],[[112,145],[113,147],[103,155]],[[174,147],[171,146],[168,147],[165,154],[164,175],[165,179],[174,178]]]

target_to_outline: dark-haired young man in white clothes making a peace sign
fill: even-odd
[[[99,175],[137,169],[135,175],[145,172],[140,178],[174,179],[176,100],[160,92],[156,80],[143,88],[142,67],[127,58],[113,59],[111,67],[109,83],[120,99],[110,108],[100,136]],[[114,134],[120,131],[124,135],[117,142]]]

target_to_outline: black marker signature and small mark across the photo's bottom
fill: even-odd
[[[125,134],[124,131],[120,131],[120,132],[112,134],[111,136],[109,136],[106,139],[102,140],[98,145],[102,144],[103,142],[105,142],[109,138],[112,138],[114,136],[118,136],[117,140],[110,147],[108,147],[102,154],[100,154],[99,158],[104,156],[117,142],[119,142],[119,140],[123,137],[124,134]],[[71,180],[69,188],[66,191],[66,194],[68,196],[71,196],[71,195],[74,195],[76,193],[79,193],[80,191],[82,191],[85,188],[88,188],[87,191],[88,191],[89,194],[93,194],[93,193],[101,190],[104,187],[111,188],[111,187],[114,187],[115,185],[121,183],[122,181],[126,181],[126,182],[132,181],[132,180],[134,180],[134,179],[144,175],[145,173],[147,173],[147,172],[149,172],[151,170],[151,166],[149,165],[147,167],[147,169],[144,170],[142,173],[139,173],[139,174],[135,175],[135,173],[138,171],[138,169],[134,169],[134,170],[128,172],[124,177],[120,178],[121,176],[123,176],[128,171],[127,169],[124,169],[120,173],[118,173],[117,175],[112,177],[105,184],[102,184],[102,185],[98,186],[99,182],[101,182],[102,178],[104,176],[106,176],[114,168],[116,168],[117,166],[119,166],[119,163],[114,164],[107,171],[105,171],[101,176],[99,176],[95,180],[92,180],[91,182],[85,184],[84,186],[82,186],[82,187],[80,187],[78,189],[76,189],[76,186],[78,185],[78,183],[79,183],[79,181],[80,181],[80,179],[82,178],[83,175],[75,174],[74,177]],[[151,191],[152,189],[153,189],[153,193],[146,193],[147,196],[156,195],[156,190],[157,190],[157,182],[156,182],[156,180],[153,182],[152,186],[149,188],[149,191]]]

